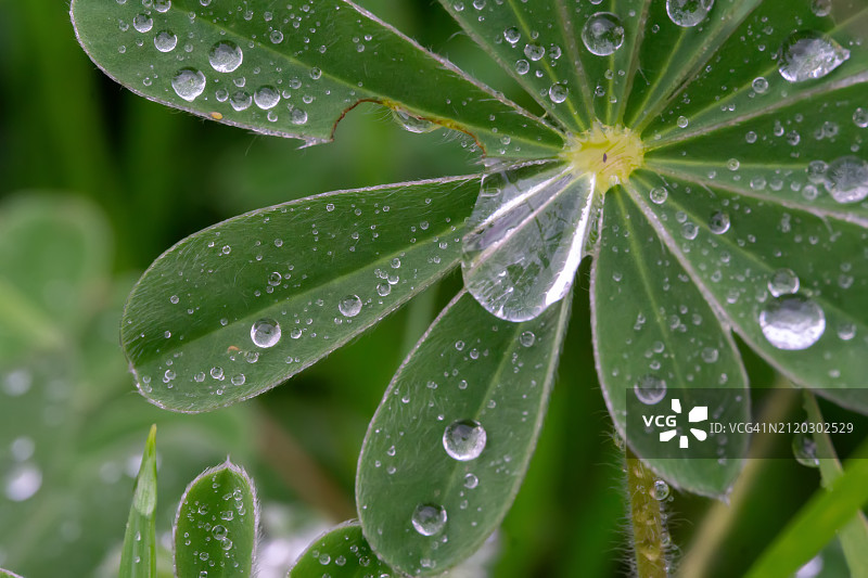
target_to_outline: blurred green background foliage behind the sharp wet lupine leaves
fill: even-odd
[[[434,2],[361,3],[535,110]],[[334,143],[305,150],[170,111],[104,77],[67,11],[61,0],[0,0],[0,566],[31,578],[116,575],[132,478],[156,423],[164,542],[184,485],[231,454],[264,504],[259,576],[285,576],[317,534],[354,516],[367,423],[460,279],[290,384],[195,416],[135,393],[117,345],[126,294],[163,251],[225,218],[334,189],[475,172],[478,158],[444,131],[403,131],[375,105],[348,115]],[[457,575],[629,573],[623,454],[596,378],[587,262],[577,285],[527,479],[502,529]],[[770,370],[745,356],[753,386],[769,386]],[[801,415],[797,399],[777,407]],[[749,468],[730,506],[677,492],[667,503],[676,560],[700,544],[686,567],[739,576],[817,487],[817,472],[794,461]],[[821,575],[841,575],[835,552]]]

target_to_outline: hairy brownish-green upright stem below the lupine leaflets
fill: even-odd
[[[656,476],[634,455],[629,448],[626,449],[626,458],[636,576],[666,578],[668,532],[661,501],[655,494]]]

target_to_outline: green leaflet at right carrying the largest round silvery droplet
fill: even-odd
[[[652,202],[663,189],[666,200]],[[631,177],[628,190],[692,282],[754,350],[795,384],[868,411],[864,389],[856,389],[868,372],[868,231],[648,171]],[[802,323],[776,323],[780,304]]]

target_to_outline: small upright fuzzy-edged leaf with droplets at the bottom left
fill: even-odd
[[[229,460],[206,470],[187,487],[175,519],[178,578],[251,576],[258,525],[247,473]]]

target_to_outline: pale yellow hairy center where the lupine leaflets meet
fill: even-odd
[[[642,141],[628,128],[595,124],[571,137],[561,153],[576,175],[593,175],[600,194],[627,180],[644,159]]]

